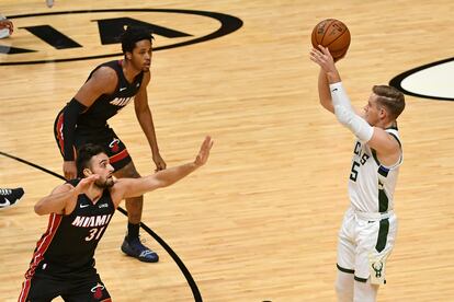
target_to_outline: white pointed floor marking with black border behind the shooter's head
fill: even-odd
[[[439,100],[454,101],[454,58],[431,62],[402,72],[389,81],[389,85],[405,94]]]

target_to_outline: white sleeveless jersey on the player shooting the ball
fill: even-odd
[[[386,129],[400,144],[397,128]],[[400,144],[401,150],[401,144]],[[352,169],[349,181],[350,202],[354,210],[361,212],[386,212],[394,208],[394,190],[396,188],[399,161],[393,166],[379,163],[375,150],[366,143],[356,141],[353,150]]]

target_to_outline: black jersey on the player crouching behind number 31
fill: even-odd
[[[90,73],[87,81],[92,77],[94,71],[104,66],[115,70],[118,78],[118,84],[113,94],[101,95],[87,112],[79,115],[77,120],[78,130],[83,130],[83,128],[92,130],[92,128],[106,127],[107,119],[116,115],[120,109],[126,106],[140,89],[144,72],[137,74],[134,78],[134,81],[129,83],[123,74],[123,60],[109,61],[98,66]]]

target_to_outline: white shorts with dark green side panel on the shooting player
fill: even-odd
[[[394,211],[386,214],[359,213],[347,210],[339,231],[338,269],[354,274],[356,281],[366,282],[371,267],[376,267],[377,277],[384,280],[384,266],[396,240],[397,217]],[[371,266],[370,258],[379,259],[379,266]],[[383,272],[383,276],[382,276]],[[375,277],[375,276],[374,276]]]

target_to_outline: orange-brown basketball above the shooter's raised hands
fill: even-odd
[[[326,19],[318,23],[311,35],[314,48],[318,45],[328,47],[334,60],[345,56],[350,46],[350,31],[345,24],[336,19]]]

